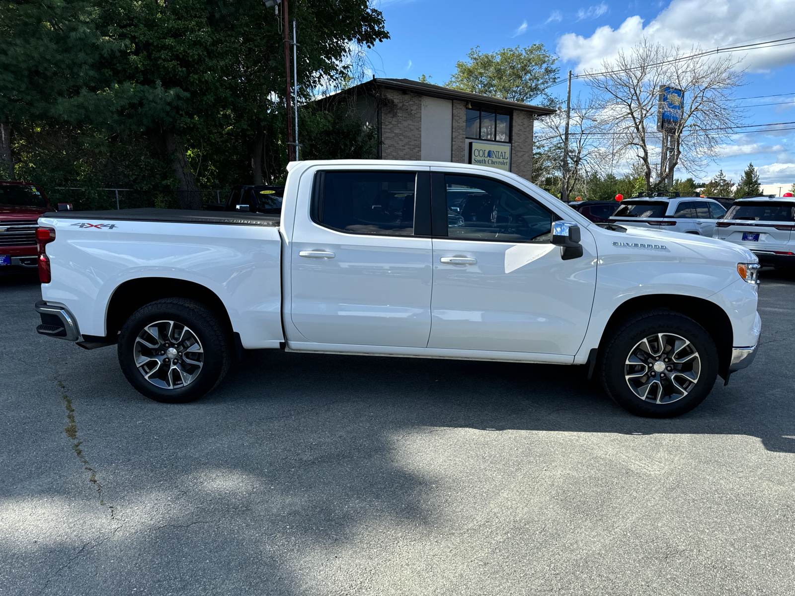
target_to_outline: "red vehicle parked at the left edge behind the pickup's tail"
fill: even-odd
[[[0,269],[36,267],[38,219],[56,211],[35,184],[0,181]],[[58,203],[57,211],[72,211],[72,203]]]

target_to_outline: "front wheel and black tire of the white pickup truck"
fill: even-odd
[[[627,412],[673,418],[695,408],[712,391],[718,350],[693,319],[673,311],[646,311],[615,325],[608,334],[599,350],[599,376],[607,394]],[[646,399],[641,397],[644,394]]]

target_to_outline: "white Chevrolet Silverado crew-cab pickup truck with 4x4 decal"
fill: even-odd
[[[281,348],[587,365],[622,407],[669,417],[754,358],[743,247],[597,225],[475,165],[288,169],[281,215],[45,214],[37,331],[118,345],[134,388],[170,403],[213,389],[244,350]]]

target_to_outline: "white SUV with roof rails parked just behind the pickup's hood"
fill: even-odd
[[[712,199],[658,196],[623,200],[610,221],[622,226],[712,236],[715,221],[725,213],[726,208]]]

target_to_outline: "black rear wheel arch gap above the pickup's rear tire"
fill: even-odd
[[[114,343],[118,332],[138,308],[163,298],[196,300],[219,315],[229,333],[232,323],[223,300],[210,288],[195,281],[173,277],[137,277],[119,284],[111,294],[105,313],[105,330],[108,343]]]

